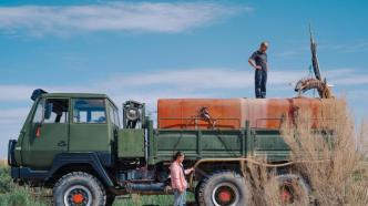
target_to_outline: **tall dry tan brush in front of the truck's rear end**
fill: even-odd
[[[286,173],[303,177],[309,189],[308,195],[299,178],[295,178],[292,187],[298,198],[288,205],[368,205],[367,122],[356,130],[344,100],[323,105],[318,112],[318,128],[324,132],[314,130],[316,121],[311,114],[309,107],[300,107],[294,121],[286,121],[293,124],[285,124],[282,130],[292,161],[299,162]],[[278,172],[255,165],[248,166],[248,172],[252,205],[287,205],[280,200]]]

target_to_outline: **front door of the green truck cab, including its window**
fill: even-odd
[[[57,154],[68,151],[69,99],[41,100],[34,112],[27,163],[48,168]]]

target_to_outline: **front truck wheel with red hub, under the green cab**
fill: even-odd
[[[82,203],[80,203],[81,200]],[[55,206],[104,206],[106,192],[101,182],[93,175],[73,172],[62,176],[54,185],[53,203]]]

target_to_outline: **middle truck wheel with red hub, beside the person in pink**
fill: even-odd
[[[200,206],[246,206],[249,189],[245,178],[235,172],[218,172],[200,185]]]

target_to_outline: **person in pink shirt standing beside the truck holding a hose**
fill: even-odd
[[[191,174],[194,168],[184,169],[184,153],[177,152],[170,166],[171,186],[174,190],[174,206],[185,206],[187,182],[185,175]]]

